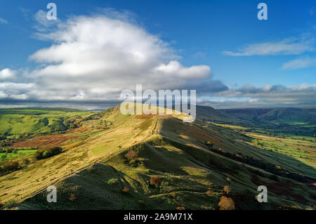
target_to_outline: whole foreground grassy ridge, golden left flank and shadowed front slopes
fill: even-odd
[[[287,178],[211,152],[207,141],[227,152],[275,159],[249,145],[249,137],[218,126],[183,123],[183,114],[122,115],[119,107],[102,113],[111,128],[65,147],[55,157],[0,177],[2,203],[19,209],[218,209],[225,185],[237,209],[312,208],[315,190]],[[133,150],[137,157],[129,161]],[[159,176],[161,183],[150,185]],[[55,185],[58,202],[46,202]],[[269,203],[259,204],[258,185],[268,185]],[[122,192],[124,187],[129,192]],[[211,190],[212,195],[205,192]],[[314,198],[314,199],[312,199]],[[20,204],[20,202],[22,202]]]

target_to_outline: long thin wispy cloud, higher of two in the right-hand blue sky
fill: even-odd
[[[306,51],[314,51],[315,41],[313,38],[288,38],[282,41],[249,44],[238,52],[223,51],[228,56],[251,56],[251,55],[298,55]]]

